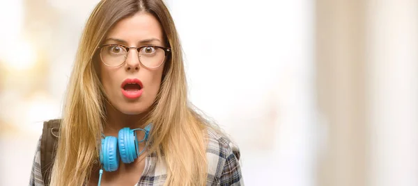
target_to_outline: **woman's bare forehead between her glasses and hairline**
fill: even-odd
[[[135,44],[139,40],[152,38],[162,41],[162,34],[160,22],[153,15],[148,12],[138,12],[116,23],[107,34],[107,38],[112,37],[125,40],[128,44]]]

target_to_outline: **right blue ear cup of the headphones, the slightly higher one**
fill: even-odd
[[[135,144],[137,139],[130,128],[122,128],[118,133],[119,153],[124,163],[131,163],[138,157]]]

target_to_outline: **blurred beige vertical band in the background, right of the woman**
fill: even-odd
[[[318,106],[328,128],[316,185],[366,185],[364,14],[363,1],[316,1]]]

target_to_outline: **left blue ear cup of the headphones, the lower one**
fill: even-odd
[[[102,150],[100,151],[100,163],[105,171],[116,171],[120,160],[118,152],[118,138],[108,136],[102,139]]]

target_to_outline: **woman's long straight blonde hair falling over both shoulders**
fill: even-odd
[[[166,185],[206,185],[204,139],[210,125],[187,101],[180,41],[169,10],[160,0],[102,0],[88,18],[68,85],[51,185],[84,185],[89,180],[106,118],[95,49],[116,22],[140,11],[160,21],[167,47],[172,50],[147,117],[153,123],[149,151],[166,162]]]

